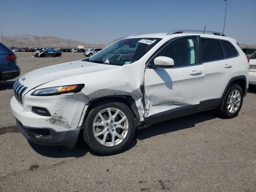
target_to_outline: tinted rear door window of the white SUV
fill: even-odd
[[[223,59],[222,49],[218,40],[201,38],[202,62]]]

